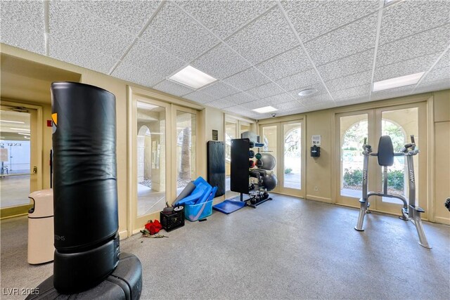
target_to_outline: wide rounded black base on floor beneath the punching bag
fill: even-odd
[[[53,275],[36,289],[39,294],[26,299],[120,299],[137,300],[142,291],[141,261],[133,254],[121,253],[114,272],[99,285],[78,294],[60,294],[53,286]]]

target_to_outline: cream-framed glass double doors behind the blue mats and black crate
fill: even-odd
[[[197,110],[133,96],[130,221],[136,233],[197,176]]]

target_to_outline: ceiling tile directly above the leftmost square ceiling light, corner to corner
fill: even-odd
[[[186,62],[219,43],[218,39],[170,2],[166,2],[150,22],[142,38]]]

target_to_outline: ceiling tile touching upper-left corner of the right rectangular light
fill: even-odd
[[[347,56],[346,58],[335,60],[332,63],[320,65],[317,67],[317,70],[319,70],[321,77],[325,81],[372,70],[373,52],[373,49],[369,49],[368,51],[357,53],[353,56]]]

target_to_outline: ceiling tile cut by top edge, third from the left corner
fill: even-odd
[[[137,36],[146,25],[160,1],[74,1],[74,5],[83,8],[106,22]]]

